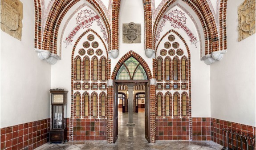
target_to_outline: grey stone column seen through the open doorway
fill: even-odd
[[[134,126],[135,123],[133,122],[133,90],[134,85],[128,85],[128,92],[129,92],[129,100],[128,100],[128,107],[129,107],[129,122],[126,124],[126,126]]]

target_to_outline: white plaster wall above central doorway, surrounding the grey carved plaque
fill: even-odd
[[[134,22],[141,24],[141,43],[125,44],[122,42],[122,24]],[[117,62],[130,50],[138,53],[149,66],[152,73],[152,59],[145,55],[145,28],[144,28],[144,10],[141,0],[121,0],[120,14],[119,14],[119,55],[116,59],[111,60],[111,75]]]

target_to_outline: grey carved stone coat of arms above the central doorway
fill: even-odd
[[[123,43],[141,43],[141,24],[123,24]]]

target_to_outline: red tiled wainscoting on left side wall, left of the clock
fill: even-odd
[[[1,128],[1,150],[33,150],[47,142],[50,119]]]

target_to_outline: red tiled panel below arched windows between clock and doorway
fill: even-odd
[[[107,140],[107,119],[73,119],[73,140]]]

